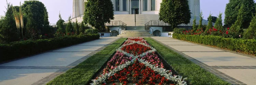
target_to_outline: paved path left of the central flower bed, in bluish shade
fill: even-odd
[[[120,37],[104,37],[0,64],[0,85],[42,85]]]

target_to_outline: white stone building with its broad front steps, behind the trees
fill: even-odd
[[[73,15],[72,21],[75,18],[78,22],[82,22],[82,16],[84,13],[84,2],[87,0],[73,0]],[[114,20],[122,21],[126,23],[126,30],[134,30],[134,26],[138,29],[146,29],[146,23],[156,24],[160,26],[159,22],[159,10],[162,0],[111,0],[114,6]],[[190,22],[193,22],[194,16],[196,16],[197,22],[199,22],[200,15],[200,0],[188,0],[189,9],[191,12]],[[135,15],[136,14],[136,15]],[[154,22],[153,22],[154,21]],[[161,23],[159,25],[159,23]],[[203,24],[207,24],[207,20],[203,20]],[[164,23],[165,24],[165,23]],[[168,25],[168,24],[167,24]],[[180,26],[192,26],[192,24],[181,24]],[[169,27],[152,27],[150,29],[168,31]],[[118,30],[118,28],[111,29]],[[153,31],[151,33],[153,33]],[[119,32],[119,31],[118,31]],[[168,35],[168,34],[167,34]]]

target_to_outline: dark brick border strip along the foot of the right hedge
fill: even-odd
[[[180,40],[180,39],[176,39],[176,38],[172,38],[172,39]],[[201,46],[205,46],[205,47],[209,47],[209,48],[213,48],[213,49],[218,49],[218,50],[222,50],[222,51],[226,51],[226,52],[231,52],[231,53],[235,53],[235,54],[239,54],[239,55],[243,55],[243,56],[247,56],[247,57],[256,58],[256,56],[254,56],[254,55],[248,55],[248,54],[244,54],[244,53],[240,53],[240,52],[236,52],[236,51],[231,51],[231,50],[226,50],[226,49],[222,49],[222,48],[218,48],[218,47],[207,46],[207,45],[203,45],[203,44],[194,43],[194,42],[191,42],[191,41],[185,41],[185,40],[180,40],[180,41],[191,43],[191,44],[196,44],[196,45],[201,45]]]

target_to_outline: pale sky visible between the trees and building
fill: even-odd
[[[8,0],[14,6],[19,5],[19,2],[24,3],[25,0]],[[49,13],[49,22],[56,23],[58,21],[59,12],[63,20],[68,20],[68,17],[72,16],[73,0],[39,0],[47,8]],[[222,18],[224,20],[224,12],[226,4],[229,0],[200,0],[200,10],[203,12],[203,19],[207,20],[207,17],[211,13],[212,16],[218,16],[219,12],[223,13]],[[0,15],[4,15],[6,12],[6,1],[0,0]]]

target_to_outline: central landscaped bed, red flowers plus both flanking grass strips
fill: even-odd
[[[117,40],[76,67],[56,77],[47,85],[81,85],[90,83],[106,85],[230,85],[152,38],[145,38],[147,41],[143,40],[143,38],[126,39]],[[124,43],[125,40],[126,42]],[[122,44],[123,46],[121,46]],[[132,44],[141,47],[132,46]],[[152,45],[152,47],[148,45]],[[164,60],[161,60],[162,58]],[[183,78],[187,77],[187,82],[180,76],[175,78],[177,73],[174,70],[169,71],[172,69],[169,65]],[[165,70],[165,72],[161,70]]]

